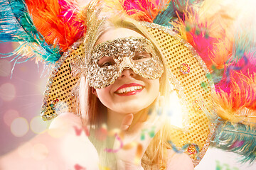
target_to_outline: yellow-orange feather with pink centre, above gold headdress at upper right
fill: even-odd
[[[213,16],[207,15],[208,8],[205,6],[207,6],[206,3],[201,6],[199,11],[186,10],[183,17],[178,16],[178,20],[173,21],[172,24],[174,30],[178,31],[181,37],[195,48],[210,72],[214,72],[213,79],[215,79],[215,82],[218,82],[223,75],[220,75],[222,71],[219,72],[217,69],[223,69],[225,62],[230,58],[233,42],[229,36],[226,36],[228,28],[220,26],[222,20],[213,19],[213,16],[221,18],[224,14],[225,16],[228,16],[228,14],[215,11]],[[223,25],[233,22],[231,16],[229,19],[226,18]]]

